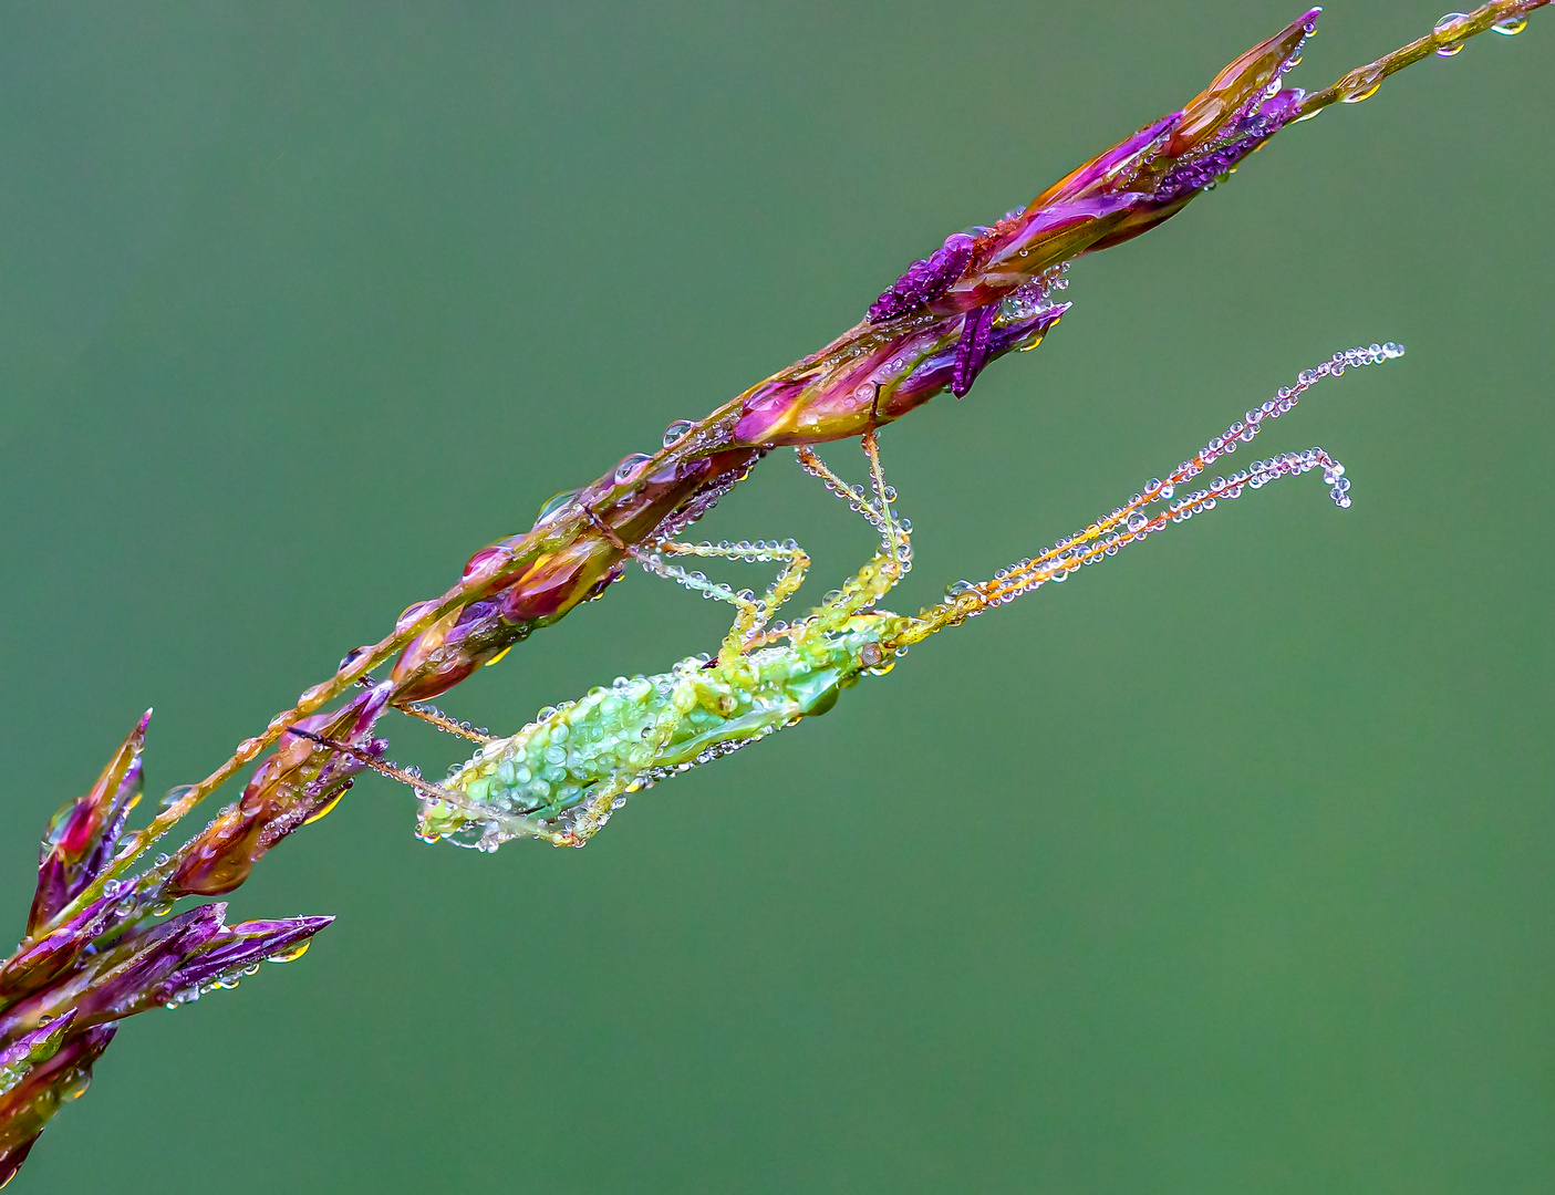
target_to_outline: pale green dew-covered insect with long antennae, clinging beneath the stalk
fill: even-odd
[[[460,730],[480,741],[480,751],[442,785],[359,747],[317,741],[415,788],[421,802],[418,834],[429,842],[448,839],[496,850],[515,838],[538,838],[582,847],[630,794],[823,715],[865,676],[891,671],[896,656],[913,643],[1050,581],[1064,581],[1075,569],[1112,556],[1171,522],[1185,522],[1218,502],[1239,497],[1244,488],[1258,489],[1277,477],[1322,469],[1334,502],[1348,507],[1344,466],[1320,448],[1253,462],[1249,469],[1216,477],[1183,497],[1176,493],[1211,462],[1250,443],[1266,420],[1288,412],[1319,379],[1401,354],[1403,348],[1393,343],[1334,354],[1303,371],[1294,387],[1249,410],[1166,480],[1152,479],[1129,502],[1039,556],[1017,561],[987,581],[958,581],[945,591],[944,601],[914,615],[877,608],[911,567],[911,528],[893,510],[896,494],[885,483],[875,432],[863,437],[868,493],[840,479],[809,448],[799,448],[801,468],[863,514],[880,533],[880,545],[840,591],[798,622],[773,623],[810,563],[793,541],[661,541],[633,555],[650,572],[739,609],[715,657],[692,656],[658,676],[620,678],[608,688],[592,688],[578,701],[541,710],[536,721],[508,738]],[[669,564],[666,556],[768,561],[781,567],[765,595],[756,598]],[[435,710],[420,713],[443,729],[457,729]]]

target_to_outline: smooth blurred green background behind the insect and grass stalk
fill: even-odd
[[[8,6],[9,923],[145,706],[156,797],[1295,8]],[[1297,82],[1438,16],[1337,3]],[[1403,340],[1260,441],[1353,510],[1174,528],[586,852],[426,847],[365,780],[233,897],[339,914],[306,960],[126,1024],[16,1189],[1549,1190],[1552,62],[1539,12],[1281,134],[883,438],[916,606]],[[698,530],[810,594],[871,545],[787,454]],[[516,729],[726,620],[634,572],[443,704]]]

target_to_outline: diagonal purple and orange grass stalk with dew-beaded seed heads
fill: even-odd
[[[328,923],[227,926],[224,904],[168,914],[182,897],[238,887],[269,847],[327,814],[364,758],[383,755],[372,730],[387,709],[437,696],[602,595],[638,544],[700,517],[771,448],[872,432],[947,388],[964,396],[989,362],[1034,348],[1057,323],[1068,305],[1056,295],[1073,260],[1169,219],[1286,124],[1365,99],[1387,76],[1432,53],[1455,53],[1487,30],[1516,33],[1546,3],[1494,0],[1311,95],[1281,87],[1320,9],[1305,12],[1186,106],[1025,208],[947,238],[832,343],[706,418],[672,424],[658,452],[627,457],[594,483],[557,496],[529,531],[474,553],[457,584],[406,609],[378,643],[351,651],[210,775],[173,794],[149,825],[126,833],[140,799],[148,712],[96,786],[50,824],[26,935],[0,965],[0,1184],[59,1103],[84,1089],[118,1019],[230,985],[260,960],[295,957]],[[390,660],[390,674],[373,682]],[[358,685],[365,690],[325,712]],[[283,740],[292,726],[351,751]],[[277,743],[239,800],[176,853],[143,866],[151,845]]]

